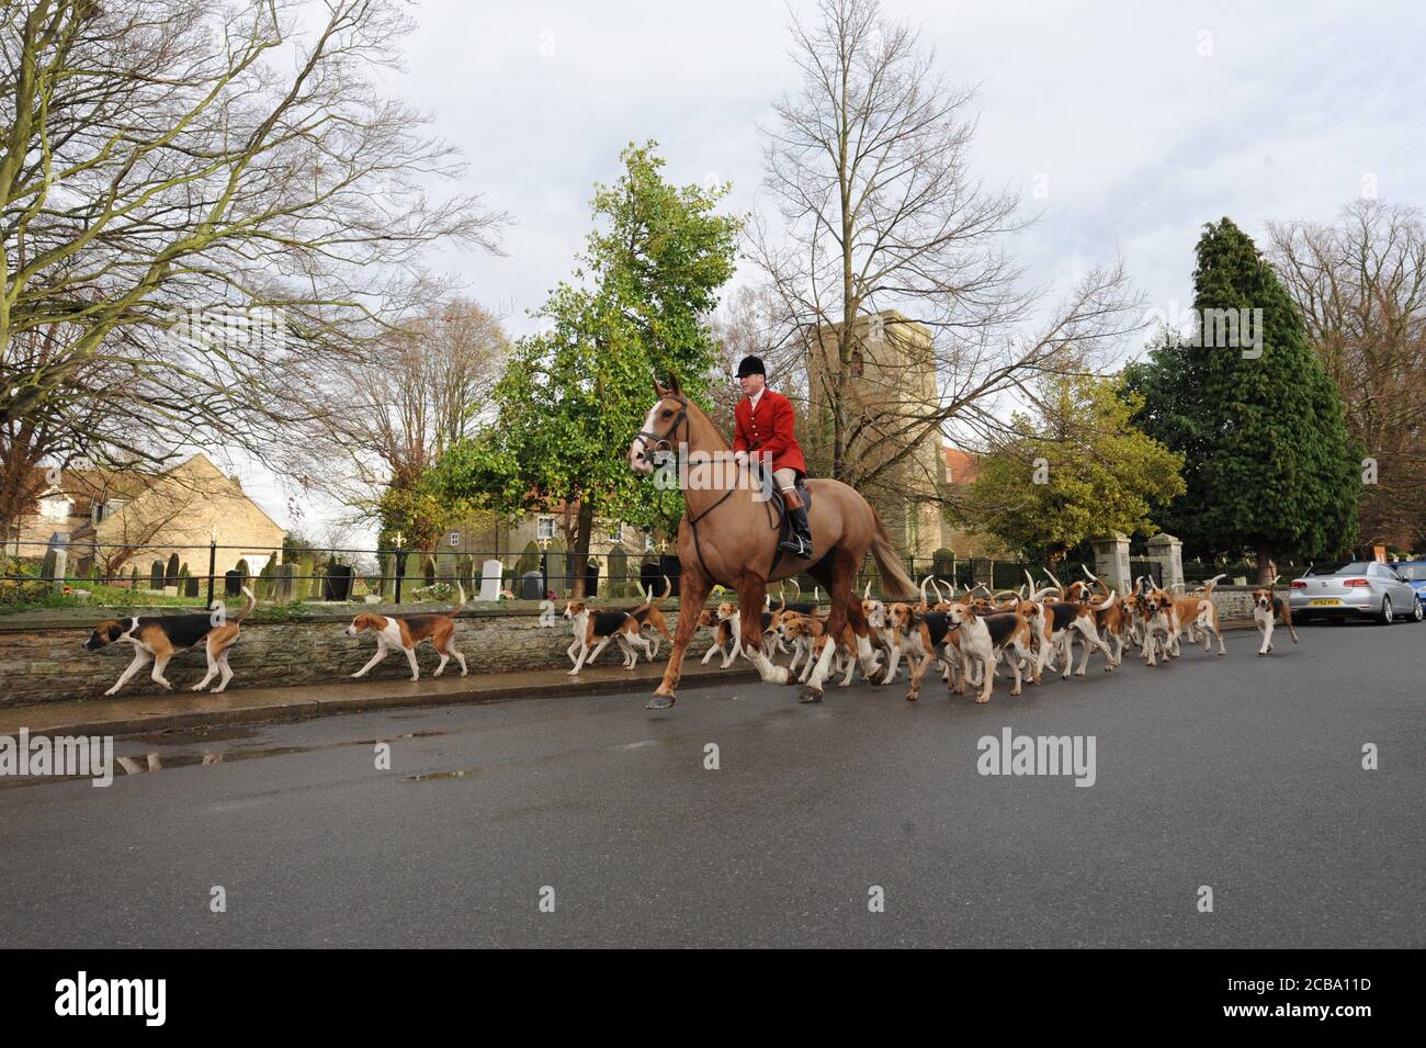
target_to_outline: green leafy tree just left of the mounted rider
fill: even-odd
[[[655,375],[676,372],[699,398],[717,351],[704,321],[733,275],[740,228],[716,214],[727,187],[674,187],[656,144],[630,145],[623,174],[596,187],[596,228],[563,282],[533,315],[496,385],[493,423],[434,471],[442,495],[503,513],[578,505],[565,540],[582,563],[596,516],[672,530],[677,490],[629,469],[627,449],[653,402]],[[583,580],[576,580],[582,587]]]

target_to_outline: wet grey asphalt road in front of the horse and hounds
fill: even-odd
[[[742,684],[124,739],[108,788],[0,780],[0,941],[1426,945],[1426,625],[1301,633],[988,706]],[[1095,784],[978,774],[1004,727],[1094,736]]]

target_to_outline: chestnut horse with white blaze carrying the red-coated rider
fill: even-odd
[[[857,636],[857,660],[870,679],[876,664],[871,637],[861,615],[861,602],[853,592],[863,558],[870,552],[876,559],[888,599],[908,600],[915,592],[915,583],[901,567],[876,510],[840,481],[807,481],[811,493],[809,520],[813,555],[779,556],[776,546],[780,518],[770,505],[770,498],[777,496],[770,488],[763,489],[759,482],[750,482],[746,468],[730,468],[732,449],[727,441],[709,416],[683,395],[676,376],[670,379],[670,388],[665,389],[655,381],[653,389],[659,399],[629,446],[629,466],[636,473],[652,473],[653,453],[669,448],[682,452],[689,468],[679,471],[686,509],[679,525],[679,562],[683,566],[679,605],[684,612],[679,615],[669,667],[649,709],[673,706],[683,652],[697,625],[697,615],[692,609],[703,606],[713,583],[737,590],[743,650],[757,666],[763,680],[786,684],[787,669],[774,666],[761,653],[763,595],[769,582],[809,572],[831,595],[827,636],[840,637],[850,620]],[[707,466],[710,462],[714,466]],[[724,482],[699,483],[699,475]],[[834,650],[836,643],[823,646],[821,657],[803,689],[801,702],[821,702],[821,684]]]

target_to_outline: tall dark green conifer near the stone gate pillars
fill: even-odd
[[[1168,526],[1192,548],[1253,550],[1261,582],[1275,553],[1348,549],[1360,451],[1302,314],[1228,218],[1198,241],[1194,289],[1195,337],[1169,332],[1125,368],[1125,388],[1144,398],[1135,423],[1188,463]],[[1224,339],[1225,317],[1241,318],[1236,339]]]

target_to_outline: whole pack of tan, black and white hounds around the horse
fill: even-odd
[[[934,576],[921,580],[920,603],[883,602],[871,596],[871,586],[861,596],[861,612],[874,650],[867,680],[876,684],[891,684],[898,673],[910,679],[906,697],[915,702],[921,693],[921,682],[933,663],[937,663],[943,682],[953,693],[965,694],[974,689],[975,702],[990,702],[994,680],[1000,667],[1005,666],[1012,677],[1010,694],[1018,696],[1028,677],[1038,684],[1044,673],[1058,672],[1062,677],[1071,673],[1084,676],[1089,656],[1098,652],[1104,657],[1104,669],[1109,672],[1119,666],[1125,649],[1138,646],[1139,657],[1148,666],[1159,666],[1182,654],[1182,640],[1198,643],[1212,652],[1218,642],[1218,654],[1226,654],[1222,632],[1218,626],[1218,612],[1211,600],[1214,585],[1219,575],[1209,579],[1202,592],[1176,596],[1135,579],[1134,592],[1117,596],[1102,580],[1085,569],[1085,580],[1060,583],[1050,575],[1051,586],[1035,589],[1028,572],[1027,586],[1020,590],[991,593],[984,586],[973,586],[957,595],[955,586],[948,593]],[[573,630],[573,640],[566,654],[573,663],[570,676],[579,674],[599,654],[615,643],[623,656],[625,669],[635,669],[642,653],[649,662],[659,654],[659,640],[673,643],[667,622],[660,610],[660,602],[669,596],[673,586],[667,576],[665,590],[653,593],[653,586],[645,590],[639,606],[632,609],[595,609],[583,600],[570,599],[565,605],[565,619]],[[636,583],[637,585],[637,583]],[[793,583],[796,586],[796,580]],[[1288,602],[1278,596],[1278,579],[1272,585],[1253,592],[1253,620],[1262,642],[1258,654],[1272,653],[1275,623],[1282,619],[1292,642],[1298,643],[1298,632],[1292,625]],[[927,595],[927,586],[935,597]],[[466,676],[465,656],[455,646],[455,617],[465,607],[465,587],[458,585],[459,602],[445,613],[418,613],[406,616],[385,616],[375,613],[358,615],[347,627],[345,635],[355,637],[371,633],[376,639],[376,652],[371,660],[351,676],[365,677],[394,650],[406,656],[411,680],[421,679],[416,664],[416,647],[429,640],[441,656],[441,663],[432,676],[439,677],[451,659]],[[165,690],[173,684],[164,676],[168,662],[187,649],[202,644],[207,656],[207,674],[191,690],[201,692],[214,677],[220,677],[212,692],[222,692],[232,680],[228,666],[228,650],[237,643],[242,620],[257,606],[252,590],[244,587],[247,605],[228,619],[221,613],[135,616],[131,619],[110,619],[100,623],[84,642],[88,650],[97,650],[113,643],[128,643],[134,649],[133,662],[118,680],[104,694],[116,694],[128,680],[153,663],[151,677]],[[817,592],[811,602],[799,602],[800,590],[793,602],[783,596],[773,607],[771,599],[763,610],[761,654],[790,654],[789,670],[806,682],[813,664],[826,644],[833,643],[833,673],[841,674],[841,686],[851,684],[858,670],[858,637],[848,623],[843,636],[827,635],[827,616],[819,606]],[[747,657],[743,650],[743,630],[739,606],[732,602],[717,607],[703,609],[699,615],[700,629],[713,632],[713,642],[703,656],[706,666],[714,657],[722,660],[722,669],[729,669],[739,657]],[[1079,644],[1079,664],[1074,666],[1074,646]]]

